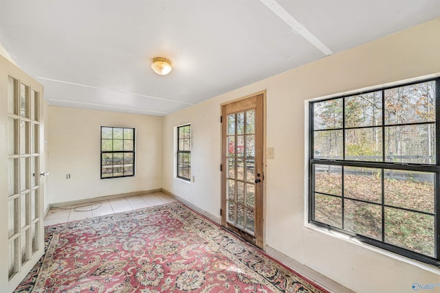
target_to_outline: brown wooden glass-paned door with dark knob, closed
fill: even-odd
[[[221,224],[263,248],[263,94],[222,106]]]

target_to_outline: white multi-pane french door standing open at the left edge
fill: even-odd
[[[43,86],[0,56],[0,292],[44,252]]]

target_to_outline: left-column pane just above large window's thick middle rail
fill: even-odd
[[[342,130],[314,132],[315,159],[342,159]]]

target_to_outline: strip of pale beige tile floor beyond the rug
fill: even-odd
[[[44,224],[50,226],[85,218],[133,211],[144,207],[153,207],[159,204],[175,202],[175,198],[162,192],[142,194],[140,196],[127,196],[125,198],[113,198],[111,200],[99,200],[83,204],[67,205],[62,208],[52,208],[47,213]]]

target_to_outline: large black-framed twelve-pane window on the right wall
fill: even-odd
[[[440,79],[311,102],[309,222],[440,266]]]

